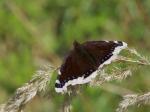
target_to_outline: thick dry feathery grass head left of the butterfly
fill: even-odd
[[[38,93],[44,91],[50,81],[53,68],[46,66],[35,73],[33,78],[18,88],[6,104],[0,106],[0,112],[21,112],[23,107]]]

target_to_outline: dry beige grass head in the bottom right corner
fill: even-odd
[[[138,94],[130,94],[125,95],[123,97],[123,101],[120,102],[119,107],[117,108],[116,112],[125,112],[127,108],[133,105],[142,105],[148,104],[150,102],[150,92],[145,93],[143,95]]]

